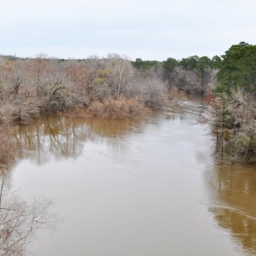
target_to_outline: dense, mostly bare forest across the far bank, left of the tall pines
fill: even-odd
[[[40,113],[74,108],[97,116],[137,115],[145,107],[162,108],[178,90],[206,93],[218,61],[217,56],[162,62],[116,54],[84,60],[1,56],[0,122],[27,123]]]

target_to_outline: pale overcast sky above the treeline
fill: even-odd
[[[256,44],[255,0],[0,0],[0,54],[181,59]]]

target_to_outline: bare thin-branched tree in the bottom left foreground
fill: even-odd
[[[54,229],[58,218],[51,212],[49,200],[28,204],[5,190],[9,170],[1,165],[0,188],[0,254],[3,256],[26,255],[26,246],[33,241],[38,231]]]

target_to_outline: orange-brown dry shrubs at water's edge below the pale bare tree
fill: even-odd
[[[120,96],[114,100],[108,97],[104,102],[92,102],[88,113],[100,118],[125,119],[132,116],[139,116],[146,111],[143,102],[138,97],[127,99]]]

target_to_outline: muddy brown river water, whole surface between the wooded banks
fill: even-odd
[[[205,109],[20,127],[11,189],[51,199],[63,219],[32,255],[255,255],[256,166],[216,154]]]

